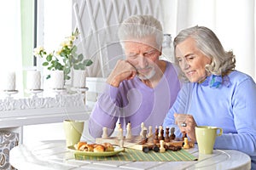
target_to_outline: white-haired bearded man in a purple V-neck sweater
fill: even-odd
[[[131,16],[119,26],[118,34],[125,59],[116,63],[90,114],[89,132],[94,138],[102,136],[102,127],[111,135],[117,122],[124,133],[131,122],[132,135],[140,134],[142,122],[145,127],[161,125],[180,89],[174,65],[160,59],[163,32],[159,20]]]

